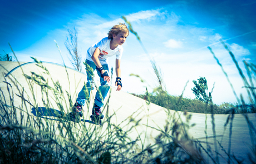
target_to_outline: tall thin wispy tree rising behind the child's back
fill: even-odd
[[[77,46],[77,31],[74,27],[73,29],[67,29],[68,35],[65,42],[65,46],[70,53],[71,59],[70,62],[72,63],[73,67],[77,71],[82,71],[81,65],[81,55],[78,53],[78,46]]]

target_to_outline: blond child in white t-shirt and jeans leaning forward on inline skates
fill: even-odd
[[[119,23],[112,27],[108,33],[108,37],[101,39],[99,42],[93,44],[87,50],[86,54],[86,73],[87,73],[87,83],[83,86],[82,90],[78,93],[76,103],[73,106],[73,111],[78,112],[80,117],[83,116],[82,106],[85,105],[85,101],[90,98],[90,92],[93,90],[92,83],[93,77],[88,71],[88,66],[92,68],[93,71],[97,70],[97,74],[100,76],[101,86],[95,95],[94,105],[92,109],[92,115],[95,117],[104,117],[101,114],[101,107],[104,106],[104,99],[110,90],[110,76],[109,76],[109,66],[108,59],[111,56],[116,57],[116,91],[120,91],[122,88],[121,83],[121,67],[120,61],[122,57],[122,44],[125,43],[127,36],[129,35],[129,29],[124,23]],[[86,88],[88,90],[88,95],[86,96]]]

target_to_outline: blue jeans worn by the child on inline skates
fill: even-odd
[[[107,64],[103,64],[102,67],[105,69],[105,71],[107,71],[109,73],[109,66]],[[94,85],[93,74],[90,73],[90,71],[88,71],[88,70],[90,70],[90,68],[91,68],[91,71],[94,72],[96,69],[96,65],[94,62],[86,60],[87,83],[86,83],[86,86],[83,86],[82,90],[78,93],[78,97],[76,99],[76,101],[82,106],[85,106],[85,101],[89,100],[91,90],[94,89],[93,88],[93,85]],[[99,87],[99,90],[97,91],[97,93],[95,95],[94,102],[96,103],[97,106],[103,107],[104,99],[110,90],[110,84],[107,81],[104,81],[104,78],[101,77],[101,72],[99,70],[97,70],[97,74],[100,76],[101,86]]]

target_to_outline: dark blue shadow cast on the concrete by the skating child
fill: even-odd
[[[36,112],[36,108],[32,108],[31,109],[31,113],[37,117],[37,112]],[[48,117],[57,117],[57,118],[62,118],[62,116],[64,116],[65,113],[52,109],[52,108],[46,108],[46,107],[38,107],[38,117],[41,118],[45,118],[48,120],[55,120],[55,121],[60,121],[60,119],[55,119],[55,118],[48,118]],[[45,117],[44,117],[45,116]],[[63,119],[63,121],[68,122],[69,120],[67,119]],[[97,125],[97,123],[92,122],[91,120],[83,120],[81,119],[81,121],[83,122],[88,122],[88,123],[93,123],[95,125]],[[74,121],[72,121],[74,122]]]

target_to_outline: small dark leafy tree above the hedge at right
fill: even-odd
[[[195,80],[193,80],[193,83],[195,85],[194,88],[192,88],[191,90],[193,91],[193,93],[195,94],[195,98],[208,103],[209,101],[211,102],[212,98],[211,98],[211,92],[208,93],[208,86],[207,86],[207,80],[205,77],[200,77],[198,78],[198,82],[196,82]]]

